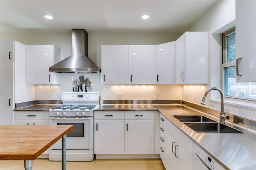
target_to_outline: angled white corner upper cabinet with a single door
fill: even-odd
[[[176,41],[156,45],[156,84],[176,83]]]

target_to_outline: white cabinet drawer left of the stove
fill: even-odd
[[[48,111],[14,111],[14,120],[48,120]]]

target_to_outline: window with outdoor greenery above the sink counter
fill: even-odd
[[[236,82],[236,31],[223,34],[222,71],[223,92],[225,97],[256,100],[256,82]]]

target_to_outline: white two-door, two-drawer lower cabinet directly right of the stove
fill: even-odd
[[[154,111],[94,111],[94,154],[154,154]]]

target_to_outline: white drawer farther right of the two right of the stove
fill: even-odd
[[[124,111],[125,120],[154,120],[154,111]]]

